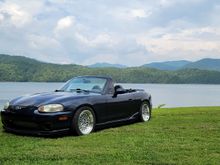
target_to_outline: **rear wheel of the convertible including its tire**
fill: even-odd
[[[147,101],[144,101],[140,107],[140,121],[147,122],[151,119],[151,108]]]

